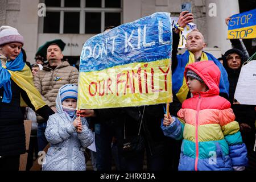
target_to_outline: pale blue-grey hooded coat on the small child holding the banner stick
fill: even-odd
[[[81,118],[82,132],[77,133],[73,120],[62,109],[60,93],[56,98],[57,113],[47,122],[46,139],[50,148],[43,163],[43,171],[85,171],[84,148],[93,143],[93,133],[85,118]]]

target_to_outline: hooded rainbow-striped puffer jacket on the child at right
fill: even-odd
[[[246,166],[247,151],[242,142],[240,127],[230,102],[218,96],[220,70],[213,61],[200,61],[188,65],[209,90],[193,93],[177,113],[170,126],[163,126],[164,135],[183,139],[179,170],[215,171],[233,170],[233,166]],[[186,77],[186,76],[185,76]]]

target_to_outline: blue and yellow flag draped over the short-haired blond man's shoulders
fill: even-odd
[[[221,71],[220,78],[220,92],[229,93],[229,81],[228,74],[225,68],[222,66],[219,60],[217,60],[213,55],[207,52],[203,52],[201,56],[201,61],[212,60]],[[176,94],[179,101],[182,103],[188,96],[188,86],[185,81],[184,71],[188,64],[195,63],[195,56],[190,51],[185,51],[183,55],[177,55],[177,67],[172,73],[172,91]]]

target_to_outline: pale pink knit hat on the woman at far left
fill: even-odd
[[[18,30],[14,27],[0,27],[0,46],[11,42],[19,42],[21,44],[24,44],[23,36],[20,35]]]

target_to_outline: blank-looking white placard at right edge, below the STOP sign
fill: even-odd
[[[238,104],[256,105],[256,60],[243,65],[234,99]],[[235,101],[235,102],[236,102]],[[236,103],[235,103],[236,104]]]

